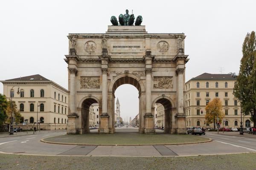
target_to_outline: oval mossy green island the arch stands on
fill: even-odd
[[[80,144],[172,144],[186,142],[203,142],[209,140],[195,135],[175,135],[175,134],[140,134],[140,133],[120,133],[98,134],[88,133],[83,135],[62,135],[44,139],[49,142],[80,143]]]

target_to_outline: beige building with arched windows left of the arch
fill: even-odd
[[[37,120],[43,130],[67,128],[68,97],[65,88],[39,74],[1,82],[3,94],[7,100],[12,96],[23,120],[28,119],[29,129]],[[22,124],[18,126],[26,129]]]

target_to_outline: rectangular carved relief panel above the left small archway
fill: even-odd
[[[99,77],[81,77],[80,88],[99,88]]]

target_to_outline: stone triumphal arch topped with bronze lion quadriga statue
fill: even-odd
[[[67,36],[67,134],[90,132],[89,107],[93,103],[99,103],[99,133],[115,133],[114,93],[123,84],[138,89],[140,133],[155,133],[155,103],[165,108],[166,133],[186,133],[185,35],[149,34],[145,26],[140,26],[142,17],[137,17],[134,26],[132,15],[120,15],[119,24],[116,17],[111,17],[113,25],[105,34]]]

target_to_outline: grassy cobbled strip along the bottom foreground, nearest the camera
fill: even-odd
[[[256,153],[186,157],[76,157],[0,154],[0,170],[255,170]]]

